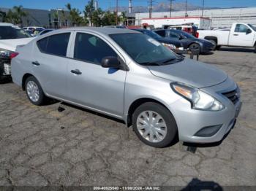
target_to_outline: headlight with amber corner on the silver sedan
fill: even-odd
[[[206,110],[206,111],[220,111],[225,108],[222,103],[216,98],[198,90],[194,87],[182,85],[177,82],[170,84],[173,91],[178,95],[186,98],[192,104],[192,109]]]

